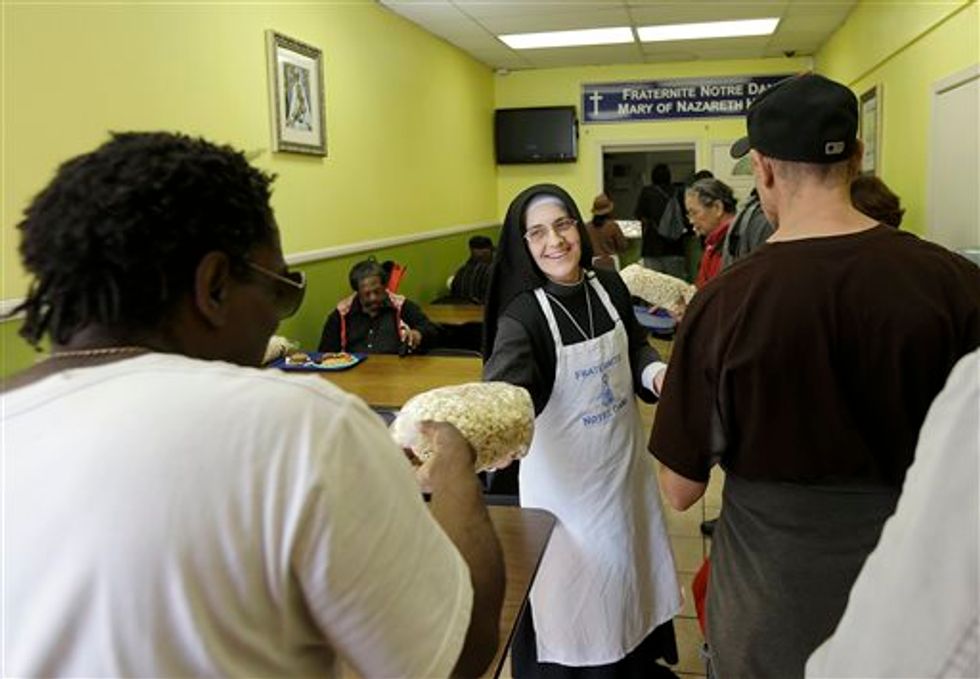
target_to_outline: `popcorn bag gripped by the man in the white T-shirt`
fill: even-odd
[[[413,396],[391,423],[402,448],[421,461],[432,454],[418,432],[424,420],[449,422],[476,451],[476,471],[524,457],[534,434],[534,405],[522,387],[506,382],[472,382]]]

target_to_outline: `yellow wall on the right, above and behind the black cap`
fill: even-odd
[[[861,2],[816,55],[855,93],[881,85],[880,176],[902,198],[902,228],[926,226],[932,86],[980,63],[976,0]]]

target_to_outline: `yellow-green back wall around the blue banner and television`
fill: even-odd
[[[661,80],[727,75],[771,75],[809,70],[809,59],[754,59],[729,61],[624,64],[516,71],[495,75],[497,108],[575,105],[581,115],[582,85],[597,82]],[[705,118],[665,122],[580,124],[578,162],[546,165],[502,165],[497,170],[497,211],[521,190],[539,182],[554,182],[567,190],[579,209],[588,213],[592,199],[602,190],[600,149],[604,143],[695,142],[697,162],[709,162],[713,141],[734,140],[745,134],[744,118]]]

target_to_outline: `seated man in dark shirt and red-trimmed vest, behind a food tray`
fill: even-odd
[[[354,294],[337,303],[320,336],[320,351],[398,354],[424,351],[439,333],[417,304],[385,288],[385,271],[373,259],[350,271]]]

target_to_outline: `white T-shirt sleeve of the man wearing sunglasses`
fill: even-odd
[[[324,429],[292,556],[310,613],[361,676],[449,676],[473,605],[466,563],[375,414],[350,399]]]

